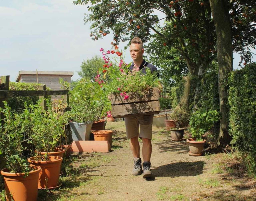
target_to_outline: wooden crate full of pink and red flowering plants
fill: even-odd
[[[110,95],[113,117],[159,113],[160,86],[157,72],[151,73],[151,70],[146,68],[146,74],[143,74],[136,67],[130,70],[131,63],[124,62],[123,53],[117,46],[115,50],[104,51],[101,48],[100,51],[105,64],[99,69],[95,82]],[[117,64],[110,60],[111,54],[119,56],[119,59],[114,58]]]

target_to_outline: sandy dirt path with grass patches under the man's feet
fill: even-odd
[[[40,191],[39,200],[256,200],[256,180],[247,178],[233,154],[189,156],[186,140],[174,142],[169,132],[153,127],[154,178],[145,180],[131,175],[124,122],[107,123],[106,129],[114,130],[112,151],[71,154],[62,165],[60,189]]]

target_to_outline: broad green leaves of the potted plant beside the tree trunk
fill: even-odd
[[[215,122],[219,120],[219,113],[216,110],[200,109],[192,114],[190,117],[189,129],[192,133],[192,137],[196,138],[196,141],[203,141],[202,136],[206,131],[214,126]]]

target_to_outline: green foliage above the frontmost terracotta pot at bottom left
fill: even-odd
[[[5,116],[0,119],[0,147],[6,161],[6,167],[10,172],[22,172],[27,175],[30,171],[27,160],[24,157],[24,132],[27,128],[28,117],[24,113],[16,114],[4,101],[4,108],[0,108],[0,114]]]

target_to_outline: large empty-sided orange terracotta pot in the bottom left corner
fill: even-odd
[[[6,200],[37,200],[38,178],[40,166],[33,166],[34,170],[24,177],[25,173],[10,173],[7,168],[1,171],[4,177]]]

